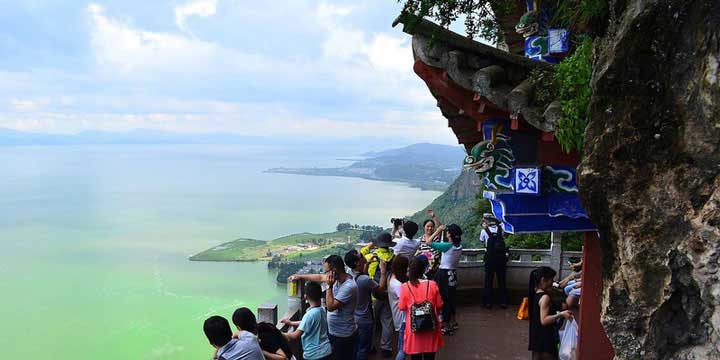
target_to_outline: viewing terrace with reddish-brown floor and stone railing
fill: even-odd
[[[550,249],[511,249],[507,264],[507,286],[511,305],[507,309],[498,306],[488,310],[482,306],[485,270],[482,261],[485,249],[465,249],[458,268],[458,322],[460,328],[452,336],[444,336],[445,346],[438,352],[438,359],[528,359],[528,322],[517,319],[520,300],[526,296],[530,272],[540,266],[550,266],[558,271],[558,279],[569,273],[568,261],[578,261],[582,252],[562,251],[561,236],[552,234]],[[307,304],[303,298],[302,280],[288,283],[288,311],[278,315],[277,304],[258,308],[258,321],[277,324],[278,329],[288,330],[279,322],[282,317],[299,320]],[[378,332],[376,332],[377,337]],[[377,339],[376,339],[377,342]],[[397,344],[394,340],[393,344]],[[299,344],[291,344],[296,356]],[[379,346],[376,345],[379,349]],[[397,350],[397,349],[394,349]],[[383,359],[375,354],[373,359]],[[394,358],[394,357],[393,357]]]

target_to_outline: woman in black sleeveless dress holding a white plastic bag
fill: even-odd
[[[571,319],[569,310],[558,312],[547,290],[552,287],[555,270],[543,266],[530,273],[528,299],[530,299],[530,338],[528,350],[533,360],[554,360],[558,358],[558,337],[555,323],[561,317]]]

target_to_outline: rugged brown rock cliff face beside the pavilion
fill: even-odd
[[[720,1],[610,1],[580,167],[618,359],[720,359]]]

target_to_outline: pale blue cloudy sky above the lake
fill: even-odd
[[[0,128],[457,144],[395,0],[0,0]]]

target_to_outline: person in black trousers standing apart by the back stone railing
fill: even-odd
[[[508,248],[505,245],[500,220],[492,214],[483,215],[483,229],[480,232],[480,241],[485,243],[485,307],[490,309],[493,305],[493,281],[498,280],[500,291],[500,307],[507,308],[508,292],[506,284]]]

